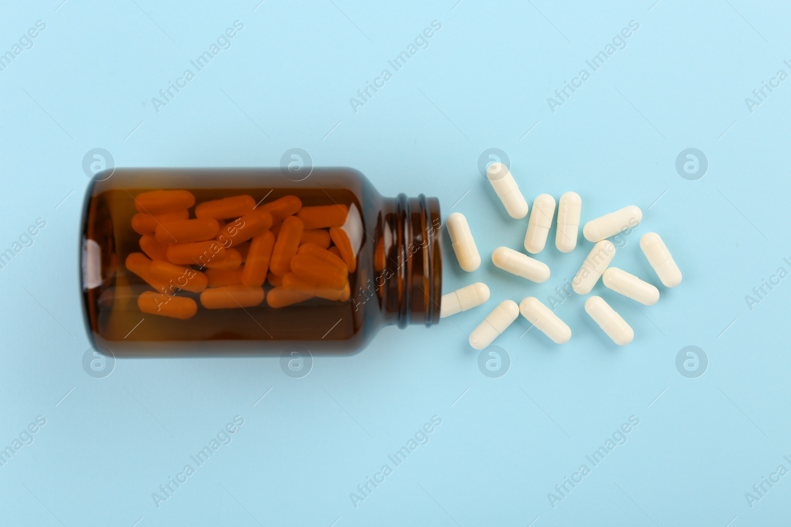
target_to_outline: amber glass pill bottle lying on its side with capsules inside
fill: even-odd
[[[437,323],[437,198],[383,198],[349,168],[292,178],[277,168],[98,175],[81,224],[94,346],[120,356],[294,344],[353,353],[381,326]]]

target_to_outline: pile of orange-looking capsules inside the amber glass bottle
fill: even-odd
[[[349,299],[357,260],[341,228],[346,205],[303,207],[293,195],[256,204],[240,195],[203,201],[191,218],[193,205],[187,190],[134,196],[131,227],[141,252],[129,254],[126,266],[151,286],[138,296],[144,313],[186,319],[199,308],[239,309],[264,299],[274,308]],[[199,293],[198,301],[176,295],[179,289]]]

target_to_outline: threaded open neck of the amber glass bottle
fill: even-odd
[[[374,269],[382,284],[385,322],[400,328],[436,324],[442,295],[439,201],[423,194],[417,198],[399,194],[384,200],[382,220]]]

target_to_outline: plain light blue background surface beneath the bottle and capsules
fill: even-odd
[[[745,295],[791,270],[791,80],[752,112],[744,99],[791,73],[788,6],[455,1],[0,7],[0,52],[47,24],[0,72],[0,250],[47,222],[0,269],[0,443],[47,420],[0,467],[0,523],[787,521],[791,476],[752,508],[744,494],[791,469],[791,279],[752,310]],[[157,113],[152,97],[236,20],[232,47]],[[350,97],[434,20],[430,46],[355,113]],[[547,97],[632,20],[626,48],[552,112]],[[444,291],[482,280],[491,299],[438,326],[383,329],[356,356],[316,357],[305,378],[273,358],[119,359],[112,375],[89,377],[77,247],[81,163],[97,147],[123,167],[277,166],[300,147],[316,165],[358,168],[383,195],[437,196],[443,217],[467,215],[483,257],[464,273],[446,240]],[[591,246],[561,254],[550,242],[538,256],[552,269],[545,284],[495,269],[491,250],[520,249],[526,220],[506,216],[479,175],[491,147],[508,153],[528,198],[577,191],[583,221],[639,205],[645,218],[613,265],[658,284],[638,239],[664,237],[684,279],[660,288],[657,305],[594,291],[634,327],[633,344],[608,341],[574,295],[557,310],[570,343],[520,337],[519,318],[495,343],[507,374],[479,371],[467,334],[486,312],[506,298],[546,301]],[[675,168],[689,147],[710,164],[697,181]],[[709,358],[701,377],[676,370],[687,345]],[[233,416],[244,418],[233,441],[157,508],[152,493]],[[350,492],[432,416],[442,423],[430,442],[355,508]],[[547,493],[630,416],[640,423],[626,444],[553,508]]]

